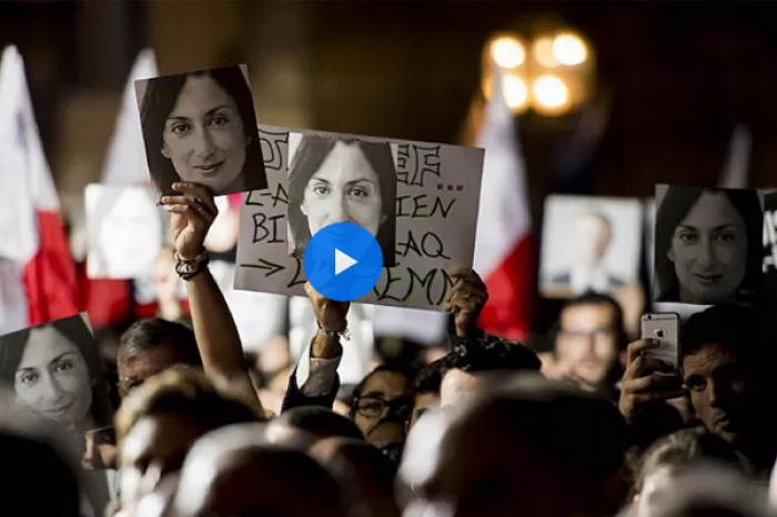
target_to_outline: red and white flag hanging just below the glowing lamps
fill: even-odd
[[[495,79],[493,91],[501,92]],[[491,95],[476,145],[485,149],[485,161],[474,268],[490,294],[480,324],[490,334],[524,339],[532,323],[534,249],[526,170],[503,95]]]

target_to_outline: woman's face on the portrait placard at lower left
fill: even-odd
[[[70,427],[83,426],[92,405],[89,368],[81,351],[51,325],[30,331],[14,389],[18,403]]]

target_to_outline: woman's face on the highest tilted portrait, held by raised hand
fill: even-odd
[[[189,75],[162,133],[162,155],[181,179],[223,191],[242,172],[248,143],[234,99],[210,75]]]

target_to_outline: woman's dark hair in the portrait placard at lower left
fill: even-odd
[[[113,416],[113,407],[108,396],[108,379],[103,373],[102,361],[97,349],[94,336],[87,323],[78,314],[0,336],[0,385],[14,389],[17,368],[19,368],[21,358],[24,355],[31,330],[47,326],[53,327],[61,336],[78,347],[89,369],[89,378],[92,382],[90,415],[94,420],[95,427],[109,425]]]

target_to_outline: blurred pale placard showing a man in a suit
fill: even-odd
[[[545,202],[541,291],[571,297],[610,293],[637,278],[638,200],[552,195]]]

